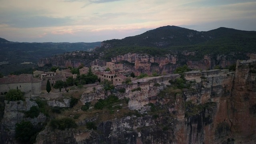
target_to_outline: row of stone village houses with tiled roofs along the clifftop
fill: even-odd
[[[107,62],[106,66],[92,66],[92,72],[98,76],[100,81],[109,80],[113,84],[121,84],[128,77],[124,73],[130,72],[130,69],[122,64]],[[80,68],[80,74],[87,74],[89,68]],[[107,70],[107,71],[106,71]],[[77,74],[72,74],[71,70],[56,70],[56,72],[34,71],[33,74],[21,74],[19,76],[9,75],[0,78],[0,94],[6,94],[10,89],[20,89],[26,94],[40,94],[46,90],[47,81],[53,86],[57,80],[66,81],[68,77],[76,78]]]

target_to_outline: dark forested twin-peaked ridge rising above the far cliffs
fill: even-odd
[[[164,55],[177,51],[194,51],[204,54],[228,54],[230,52],[256,52],[256,31],[235,30],[220,27],[198,32],[178,26],[162,26],[137,36],[102,42],[96,51],[104,52],[104,58],[128,52]]]

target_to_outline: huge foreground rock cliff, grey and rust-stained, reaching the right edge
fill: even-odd
[[[130,98],[129,109],[141,114],[100,122],[97,130],[46,129],[39,134],[38,143],[53,140],[74,144],[254,144],[255,70],[256,60],[248,60],[237,61],[233,72],[186,72],[184,78],[190,88],[182,90],[173,89],[175,83],[170,82],[180,80],[177,75],[119,84],[116,89],[125,88],[125,92],[116,95]],[[103,93],[96,95],[104,98]],[[92,94],[83,95],[82,102],[98,99]],[[60,134],[67,137],[58,138]]]

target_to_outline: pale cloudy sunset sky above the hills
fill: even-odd
[[[97,42],[160,26],[256,30],[255,0],[0,0],[0,38]]]

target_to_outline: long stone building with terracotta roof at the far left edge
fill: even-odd
[[[20,89],[26,94],[41,94],[42,80],[33,78],[32,76],[14,76],[0,78],[0,94],[5,94],[10,89]]]

